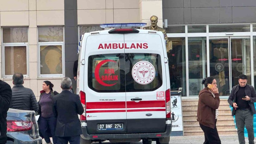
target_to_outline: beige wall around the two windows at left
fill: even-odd
[[[39,98],[42,83],[37,75],[37,26],[64,26],[64,0],[0,0],[0,26],[28,27],[28,66],[29,77],[25,78],[24,87],[31,88]],[[0,34],[1,35],[1,34]],[[2,37],[2,35],[1,35]],[[1,41],[0,41],[1,45]],[[2,52],[2,47],[0,53]],[[2,78],[2,55],[0,54],[0,78]],[[12,79],[3,79],[11,87]],[[60,78],[47,79],[52,82],[54,90],[61,92]]]

